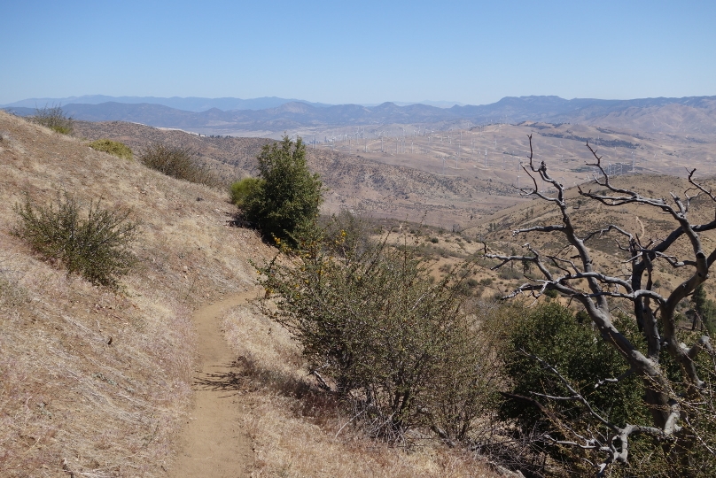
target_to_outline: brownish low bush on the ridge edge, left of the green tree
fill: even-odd
[[[179,180],[218,186],[220,181],[216,175],[206,166],[199,165],[194,156],[190,148],[156,143],[144,150],[139,160],[145,166]]]

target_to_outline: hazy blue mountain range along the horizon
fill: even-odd
[[[97,102],[105,96],[82,96]],[[136,98],[151,99],[151,98]],[[644,132],[682,132],[716,134],[716,96],[684,98],[643,98],[602,100],[559,96],[508,96],[493,104],[457,105],[440,108],[428,104],[393,103],[363,106],[359,104],[309,104],[282,98],[159,98],[165,102],[186,104],[176,108],[149,101],[110,101],[63,104],[66,114],[76,120],[122,120],[154,127],[175,127],[205,134],[237,135],[244,132],[283,132],[325,127],[371,127],[391,124],[422,124],[443,129],[455,123],[465,127],[486,122],[543,121],[582,123],[604,127],[630,128]],[[31,100],[18,102],[25,104]],[[84,100],[82,100],[84,101]],[[213,102],[213,103],[212,103]],[[233,103],[232,103],[233,102]],[[240,103],[244,102],[244,103]],[[249,102],[249,103],[246,103]],[[251,103],[253,102],[253,103]],[[258,108],[261,104],[271,104]],[[283,102],[283,103],[281,103]],[[277,104],[280,103],[280,104]],[[195,111],[209,104],[222,104]],[[256,109],[245,107],[253,104]],[[188,109],[193,105],[193,110]],[[35,112],[35,107],[13,104],[5,109],[19,115]]]

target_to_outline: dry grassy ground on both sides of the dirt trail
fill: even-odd
[[[4,112],[0,135],[0,475],[164,476],[191,404],[191,310],[253,287],[248,259],[273,251],[228,227],[220,191]],[[142,221],[141,266],[121,294],[67,277],[11,234],[13,204],[26,193],[44,203],[58,188],[130,207]],[[404,453],[350,427],[337,437],[349,417],[311,391],[283,330],[251,308],[228,312],[224,328],[247,364],[237,390],[256,475],[494,475],[430,443]]]

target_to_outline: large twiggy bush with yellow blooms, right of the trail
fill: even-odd
[[[429,428],[470,436],[494,394],[477,319],[463,311],[462,281],[430,280],[413,247],[382,242],[331,258],[323,231],[261,267],[276,307],[263,311],[299,341],[309,372],[354,405],[370,435],[405,439]],[[290,262],[290,263],[289,263]]]

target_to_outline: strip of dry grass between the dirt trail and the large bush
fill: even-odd
[[[253,476],[498,476],[481,459],[431,440],[405,451],[344,428],[350,417],[315,389],[296,343],[252,306],[227,312],[223,328],[244,366],[234,389],[247,409]]]

